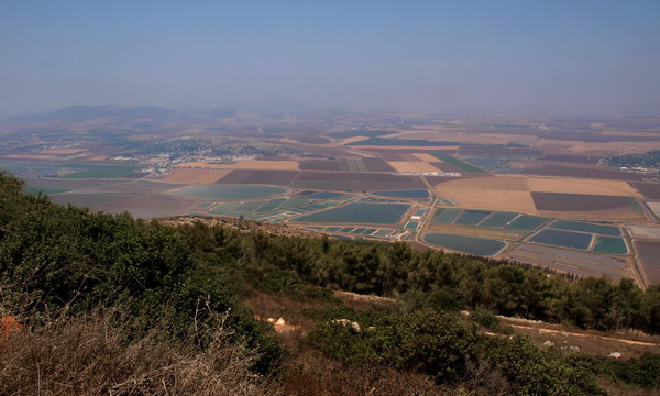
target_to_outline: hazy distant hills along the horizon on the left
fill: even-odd
[[[237,111],[270,113],[282,111],[308,111],[312,108],[296,103],[289,100],[268,100],[255,105],[239,105],[233,103],[226,108],[213,109],[208,111],[178,111],[157,106],[70,106],[64,109],[29,116],[16,116],[8,118],[10,122],[51,122],[51,121],[86,121],[98,118],[112,118],[122,120],[182,120],[182,119],[198,119],[205,117],[211,118],[231,118],[237,114]]]

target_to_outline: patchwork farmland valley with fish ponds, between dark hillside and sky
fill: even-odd
[[[0,166],[91,211],[286,223],[646,287],[659,121],[81,106],[6,119]]]

